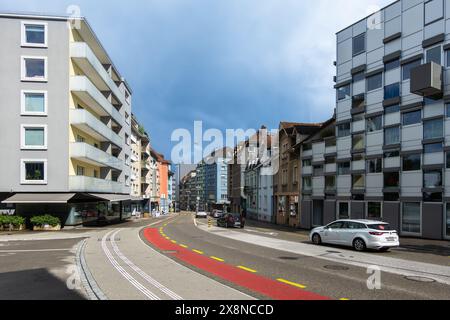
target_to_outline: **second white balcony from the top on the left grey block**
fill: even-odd
[[[112,117],[123,127],[124,119],[119,111],[105,98],[105,96],[85,76],[70,78],[70,91],[81,101],[92,108],[101,117]]]

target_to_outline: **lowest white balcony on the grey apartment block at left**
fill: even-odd
[[[71,192],[126,193],[123,183],[84,176],[70,176]]]

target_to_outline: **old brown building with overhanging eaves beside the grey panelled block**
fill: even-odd
[[[274,177],[276,223],[300,226],[301,142],[318,131],[321,124],[281,122],[279,127],[279,170]]]

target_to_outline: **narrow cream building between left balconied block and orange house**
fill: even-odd
[[[149,213],[151,196],[150,139],[131,114],[131,197],[135,213]]]

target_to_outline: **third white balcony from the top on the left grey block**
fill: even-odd
[[[70,110],[70,124],[93,138],[102,142],[112,142],[122,147],[122,139],[103,122],[94,117],[90,112],[83,109]]]

